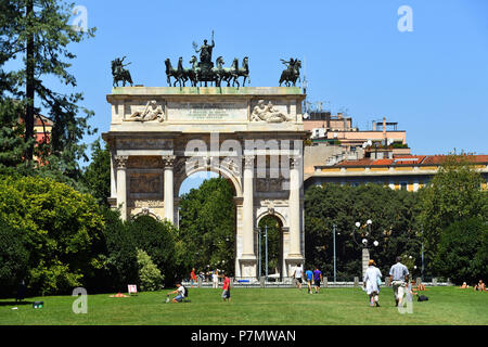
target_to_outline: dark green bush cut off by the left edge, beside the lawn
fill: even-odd
[[[0,220],[0,296],[12,294],[27,273],[25,232]]]

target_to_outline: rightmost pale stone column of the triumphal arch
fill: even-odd
[[[300,158],[290,160],[290,254],[288,258],[301,259],[300,249]]]

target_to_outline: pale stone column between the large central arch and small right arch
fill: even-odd
[[[254,253],[254,155],[246,155],[244,158],[241,277],[256,277],[256,255]]]

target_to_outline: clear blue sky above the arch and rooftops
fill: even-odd
[[[414,154],[488,153],[488,1],[85,0],[93,39],[72,72],[91,124],[110,127],[110,64],[127,55],[134,83],[166,86],[164,60],[194,54],[215,30],[214,60],[249,56],[251,86],[278,86],[280,59],[306,62],[308,100],[344,107],[365,128],[386,116]],[[400,33],[397,11],[413,11]],[[91,142],[93,139],[87,139]]]

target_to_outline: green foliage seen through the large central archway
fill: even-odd
[[[234,272],[234,204],[231,185],[223,178],[205,180],[180,201],[179,239],[185,246],[185,273],[222,269]]]

